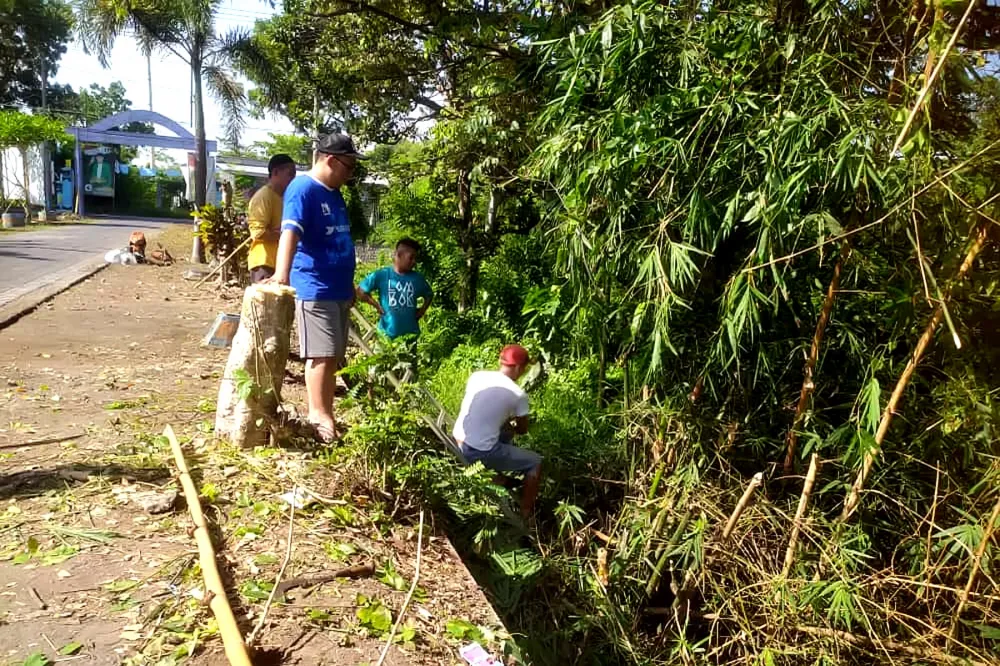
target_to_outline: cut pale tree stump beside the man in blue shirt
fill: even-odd
[[[294,292],[251,285],[219,386],[215,434],[242,447],[267,443],[281,403],[281,383],[295,318]]]

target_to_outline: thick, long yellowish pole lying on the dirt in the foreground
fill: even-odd
[[[247,646],[243,643],[243,634],[240,633],[239,625],[236,624],[236,618],[233,616],[233,609],[229,606],[226,588],[223,587],[222,579],[219,577],[212,538],[208,534],[208,525],[205,523],[205,516],[201,511],[201,503],[198,501],[198,491],[194,487],[194,481],[191,480],[191,472],[184,460],[184,452],[181,450],[180,442],[177,441],[177,436],[174,435],[173,428],[168,425],[164,428],[163,435],[170,442],[170,448],[173,450],[174,460],[177,462],[177,469],[180,472],[181,487],[184,489],[184,498],[187,500],[188,510],[191,512],[191,521],[195,525],[194,538],[198,544],[198,562],[205,579],[205,594],[211,596],[208,605],[219,623],[219,634],[222,636],[226,658],[231,666],[253,666],[250,655],[247,653]]]

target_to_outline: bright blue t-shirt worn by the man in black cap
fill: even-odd
[[[306,174],[285,190],[281,230],[299,234],[289,276],[301,301],[349,301],[354,297],[354,241],[347,206],[338,190]]]

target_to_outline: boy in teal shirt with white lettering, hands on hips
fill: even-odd
[[[420,319],[434,298],[427,280],[413,270],[419,252],[417,241],[400,240],[392,266],[369,273],[358,287],[358,300],[375,307],[379,313],[378,330],[390,340],[420,335]],[[377,301],[371,296],[373,292],[378,292]],[[423,301],[419,306],[418,299]]]

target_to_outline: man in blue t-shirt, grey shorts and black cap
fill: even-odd
[[[340,187],[364,159],[343,134],[320,137],[307,174],[285,190],[274,281],[295,288],[299,354],[306,361],[309,421],[336,436],[333,394],[354,302],[354,241]]]

